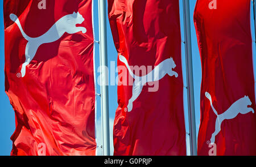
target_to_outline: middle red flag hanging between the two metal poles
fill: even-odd
[[[114,155],[186,155],[179,1],[108,5],[119,71]]]

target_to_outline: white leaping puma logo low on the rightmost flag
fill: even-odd
[[[242,97],[241,99],[234,102],[229,107],[229,109],[226,110],[226,112],[224,112],[220,115],[218,115],[216,109],[212,105],[212,97],[210,96],[210,93],[205,92],[205,96],[207,97],[207,99],[209,99],[210,106],[212,107],[212,110],[213,110],[214,114],[217,115],[217,119],[216,119],[216,123],[215,123],[215,131],[212,134],[212,138],[210,138],[210,143],[215,142],[215,136],[218,134],[218,132],[221,131],[222,121],[224,121],[225,119],[233,119],[233,118],[237,117],[237,115],[239,113],[241,113],[241,114],[247,114],[249,112],[254,113],[253,108],[247,107],[247,106],[251,105],[251,101],[250,101],[248,96]]]

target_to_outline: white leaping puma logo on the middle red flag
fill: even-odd
[[[136,76],[133,74],[133,71],[131,71],[131,68],[123,55],[119,55],[119,60],[123,63],[125,63],[125,66],[127,67],[129,73],[131,76],[133,76],[134,83],[133,83],[133,95],[131,99],[128,102],[127,110],[130,112],[133,109],[133,102],[138,98],[138,96],[141,94],[142,88],[144,84],[147,82],[155,82],[160,79],[162,79],[166,74],[170,76],[174,76],[177,78],[178,74],[175,71],[172,71],[172,68],[175,68],[175,62],[174,59],[168,58],[165,59],[163,62],[159,63],[158,66],[154,68],[150,73],[144,76]],[[152,77],[148,77],[152,76]]]

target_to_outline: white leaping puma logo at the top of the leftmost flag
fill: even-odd
[[[19,18],[15,14],[10,14],[10,19],[18,25],[23,37],[28,41],[25,51],[26,61],[23,63],[21,70],[22,77],[26,74],[26,66],[32,61],[40,45],[59,40],[59,38],[63,36],[65,32],[69,34],[80,31],[82,33],[86,32],[86,28],[76,27],[76,24],[81,24],[84,22],[84,18],[81,14],[79,14],[79,12],[73,12],[73,14],[63,16],[55,24],[53,24],[46,33],[36,38],[26,35],[19,22]]]

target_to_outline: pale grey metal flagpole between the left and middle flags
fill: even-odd
[[[108,50],[106,34],[106,1],[98,0],[100,30],[100,61],[101,61],[101,120],[103,155],[110,155],[109,141],[109,89],[108,89]]]

